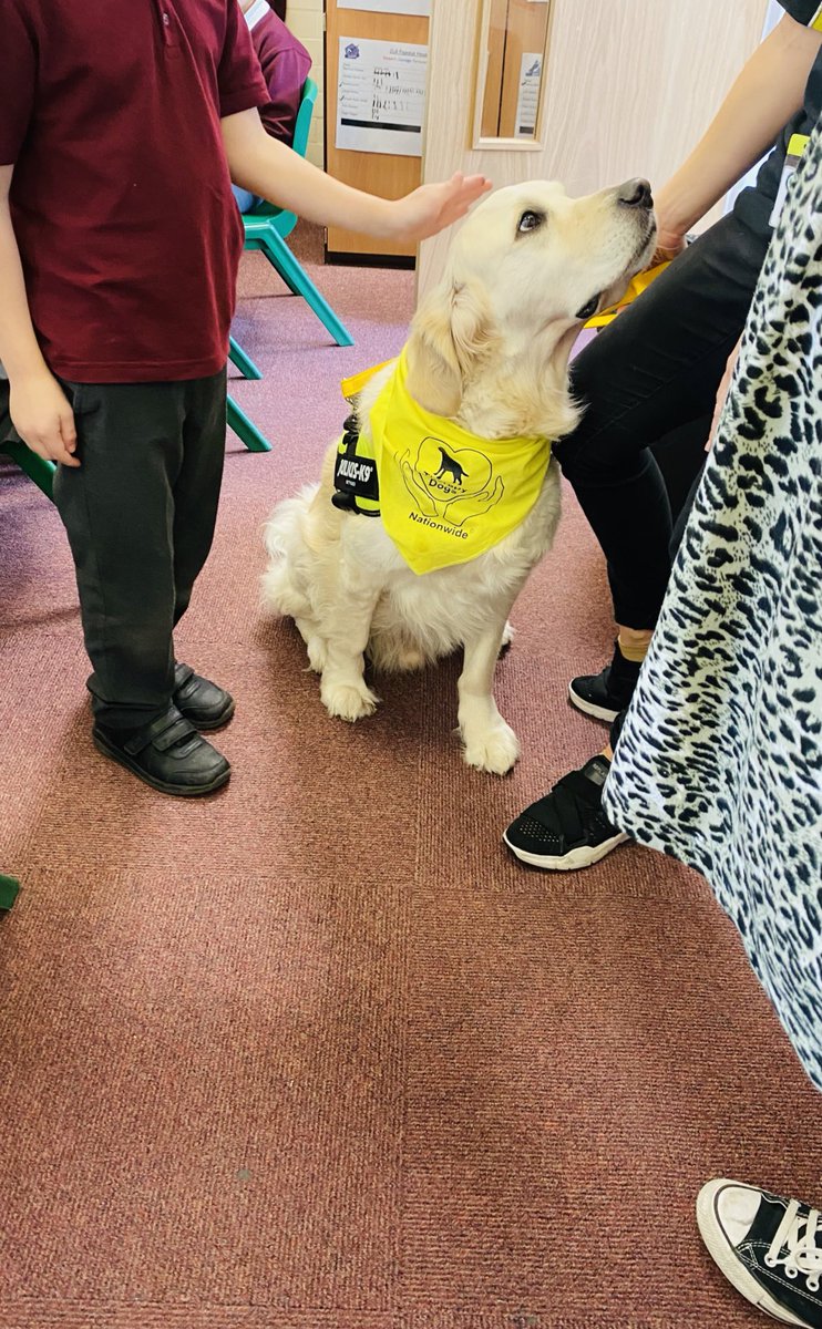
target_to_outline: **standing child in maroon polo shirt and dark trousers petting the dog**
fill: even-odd
[[[173,629],[209,553],[242,226],[231,179],[309,221],[422,239],[487,182],[386,201],[266,134],[237,0],[0,0],[0,436],[59,462],[97,747],[166,793],[230,773],[227,692]],[[11,392],[11,395],[9,395]]]

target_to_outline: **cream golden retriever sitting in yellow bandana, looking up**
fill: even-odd
[[[572,344],[583,323],[615,303],[646,266],[654,237],[650,186],[641,179],[585,198],[569,198],[547,181],[511,185],[464,221],[446,276],[422,302],[400,358],[408,409],[432,413],[439,425],[428,429],[416,457],[403,455],[396,472],[416,504],[406,513],[414,538],[419,528],[431,528],[455,550],[446,557],[458,561],[415,570],[398,548],[399,528],[394,537],[386,529],[387,512],[341,510],[339,444],[329,449],[319,484],[279,504],[266,524],[263,605],[297,623],[330,715],[358,720],[374,711],[379,699],[366,682],[366,661],[376,671],[411,670],[462,646],[464,759],[497,775],[515,764],[519,742],[496,707],[493,674],[511,638],[513,602],[552,545],[560,481],[552,460],[523,500],[517,477],[528,466],[517,460],[492,482],[485,452],[504,455],[508,440],[516,440],[516,457],[527,457],[521,449],[529,440],[537,449],[540,440],[573,429]],[[391,424],[395,367],[379,369],[355,399],[360,441],[376,435],[378,413],[380,428]],[[448,428],[474,441],[456,448]],[[359,469],[348,465],[355,474]],[[380,473],[380,496],[383,480]],[[467,557],[470,532],[480,529],[505,488],[515,525]]]

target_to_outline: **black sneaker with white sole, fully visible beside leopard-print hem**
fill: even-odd
[[[603,785],[611,762],[595,756],[581,771],[553,785],[551,793],[512,821],[503,840],[521,863],[548,872],[589,868],[624,844],[628,836],[603,812]]]

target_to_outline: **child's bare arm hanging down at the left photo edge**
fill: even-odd
[[[35,336],[8,193],[15,167],[0,166],[0,361],[9,381],[12,423],[29,448],[78,466],[74,416]]]

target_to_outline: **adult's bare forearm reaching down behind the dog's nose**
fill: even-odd
[[[754,51],[690,157],[656,194],[658,251],[684,237],[754,162],[802,106],[822,32],[790,15]]]

